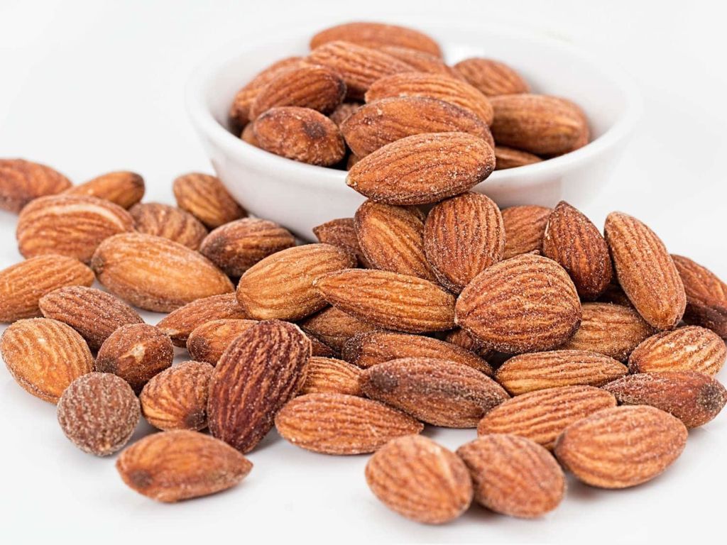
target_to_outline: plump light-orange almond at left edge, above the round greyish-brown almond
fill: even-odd
[[[13,323],[0,337],[0,354],[17,384],[50,403],[58,403],[68,384],[93,371],[83,337],[49,318]]]

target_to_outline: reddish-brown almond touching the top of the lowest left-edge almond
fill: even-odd
[[[121,326],[142,323],[139,313],[111,294],[86,286],[68,286],[41,297],[39,307],[45,318],[67,323],[86,340],[91,350]]]

